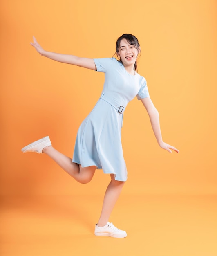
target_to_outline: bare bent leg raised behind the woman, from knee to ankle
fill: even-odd
[[[52,146],[43,148],[42,152],[51,157],[64,171],[80,183],[88,183],[94,176],[96,166],[81,167],[81,165],[73,163],[70,157],[67,157],[57,151]]]

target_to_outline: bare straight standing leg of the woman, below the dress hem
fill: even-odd
[[[119,198],[119,195],[121,193],[121,190],[123,188],[123,185],[125,182],[118,181],[114,179],[114,174],[111,174],[111,182],[108,185],[106,191],[105,191],[105,197],[103,200],[103,208],[101,211],[101,216],[98,221],[98,226],[103,227],[107,224],[110,214],[112,213],[112,210],[114,208],[114,205],[116,201]]]

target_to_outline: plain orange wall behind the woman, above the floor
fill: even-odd
[[[43,58],[50,51],[111,57],[123,33],[139,38],[139,73],[161,117],[158,147],[142,104],[125,112],[123,193],[217,192],[215,0],[0,1],[1,193],[101,193],[108,175],[77,184],[46,155],[20,149],[49,135],[72,157],[76,131],[101,94],[103,74]],[[88,192],[87,192],[88,191]]]

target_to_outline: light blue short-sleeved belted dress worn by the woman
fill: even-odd
[[[127,180],[121,145],[123,112],[135,96],[149,97],[146,80],[130,75],[116,58],[94,59],[97,71],[105,73],[100,99],[78,129],[72,162],[96,166],[113,173],[115,180]]]

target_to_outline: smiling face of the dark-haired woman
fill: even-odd
[[[118,51],[118,56],[121,58],[124,66],[135,64],[139,52],[136,47],[128,43],[125,38],[121,40]]]

